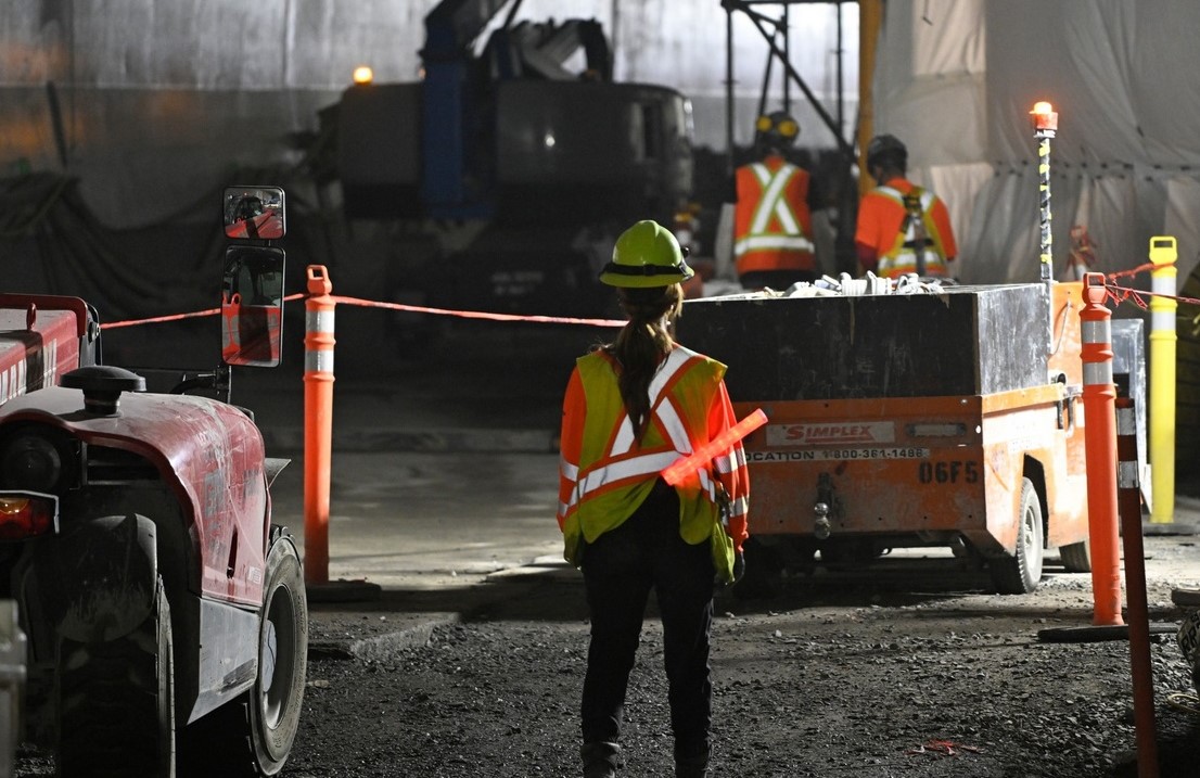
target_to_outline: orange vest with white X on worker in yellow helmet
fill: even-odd
[[[733,262],[738,275],[760,270],[812,270],[809,174],[780,156],[737,170]]]

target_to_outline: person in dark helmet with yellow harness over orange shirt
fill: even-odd
[[[905,178],[905,144],[894,136],[876,136],[866,146],[866,169],[878,186],[858,207],[854,246],[863,270],[888,279],[910,273],[949,276],[959,251],[949,211],[940,197]]]

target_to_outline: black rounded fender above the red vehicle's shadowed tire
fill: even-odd
[[[36,597],[62,639],[104,642],[133,632],[156,608],[156,527],[145,516],[85,521],[34,555]]]

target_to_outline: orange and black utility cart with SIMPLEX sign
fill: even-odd
[[[728,365],[739,418],[769,418],[744,441],[742,593],[918,546],[1002,593],[1033,591],[1048,547],[1090,570],[1081,285],[888,286],[685,304],[680,342]]]

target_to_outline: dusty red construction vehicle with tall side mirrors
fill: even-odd
[[[260,186],[227,190],[227,234],[252,197],[282,238],[283,191]],[[232,292],[257,288],[277,343],[283,264],[265,239],[232,245],[224,321],[240,317]],[[277,349],[246,354],[227,327],[226,364],[151,394],[96,364],[82,300],[8,294],[0,309],[0,598],[28,636],[26,740],[62,776],[278,773],[304,694],[304,576],[271,523],[286,461],[228,402],[229,365],[277,364]]]

